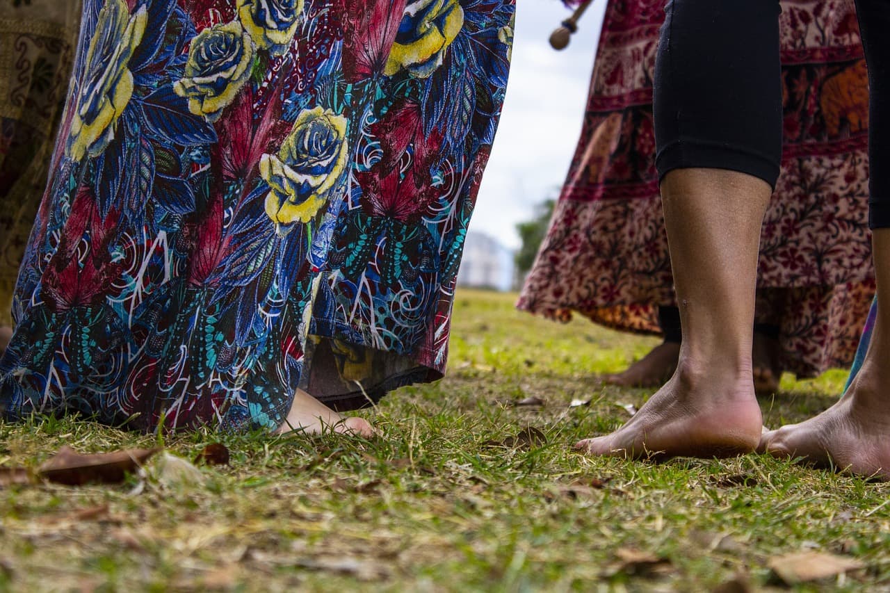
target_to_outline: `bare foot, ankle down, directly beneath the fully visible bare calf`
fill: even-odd
[[[732,457],[754,451],[762,430],[750,372],[678,370],[626,425],[576,449],[624,458]]]

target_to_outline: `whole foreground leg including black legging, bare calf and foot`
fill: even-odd
[[[752,327],[760,224],[781,155],[781,86],[778,3],[756,4],[668,5],[655,118],[683,344],[674,376],[627,425],[578,448],[712,457],[759,441]],[[762,45],[752,50],[751,39]]]

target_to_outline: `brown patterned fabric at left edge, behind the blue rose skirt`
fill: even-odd
[[[0,326],[46,186],[80,0],[0,0]]]

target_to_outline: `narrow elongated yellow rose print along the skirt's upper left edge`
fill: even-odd
[[[99,11],[86,53],[87,74],[71,120],[69,157],[97,156],[114,138],[117,118],[133,96],[133,73],[128,66],[147,20],[144,6],[131,15],[124,0],[109,0]]]

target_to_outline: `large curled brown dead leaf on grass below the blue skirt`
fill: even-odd
[[[121,483],[128,473],[142,466],[158,449],[126,449],[84,455],[68,446],[37,468],[37,476],[69,486],[85,483]]]

